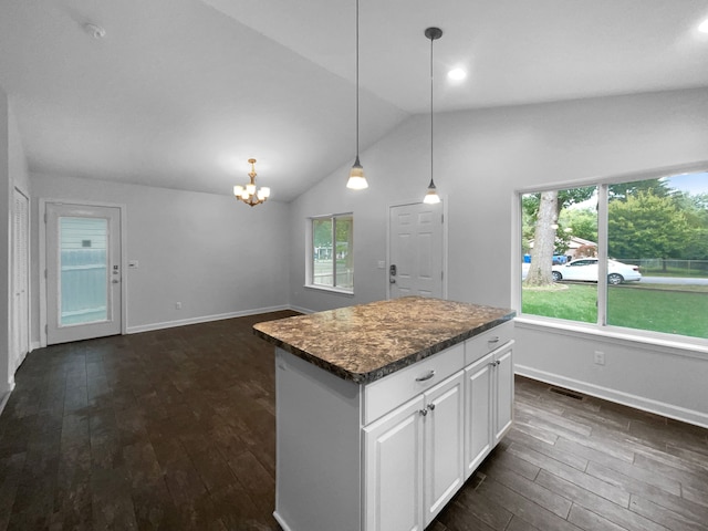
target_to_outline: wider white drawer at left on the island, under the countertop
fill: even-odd
[[[465,365],[465,344],[459,343],[402,368],[364,387],[364,425],[425,393]],[[431,376],[431,372],[435,372]]]

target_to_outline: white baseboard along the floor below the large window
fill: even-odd
[[[664,417],[680,420],[683,423],[700,426],[701,428],[708,428],[708,415],[701,412],[693,409],[686,409],[684,407],[674,406],[663,402],[653,400],[650,398],[644,398],[642,396],[632,395],[622,391],[611,389],[608,387],[602,387],[600,385],[589,384],[579,379],[568,378],[559,374],[546,373],[545,371],[538,371],[532,367],[523,365],[514,365],[514,373],[521,376],[528,376],[529,378],[545,382],[546,384],[558,385],[568,389],[576,391],[585,395],[594,396],[625,406],[634,407],[643,412],[654,413]]]

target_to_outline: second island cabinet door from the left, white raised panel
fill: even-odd
[[[465,481],[465,374],[459,371],[425,394],[425,524]]]

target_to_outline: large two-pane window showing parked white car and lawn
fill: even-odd
[[[521,313],[708,339],[708,173],[524,194]]]

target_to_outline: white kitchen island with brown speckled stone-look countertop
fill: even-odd
[[[282,528],[423,530],[511,426],[513,316],[412,296],[256,324]]]

